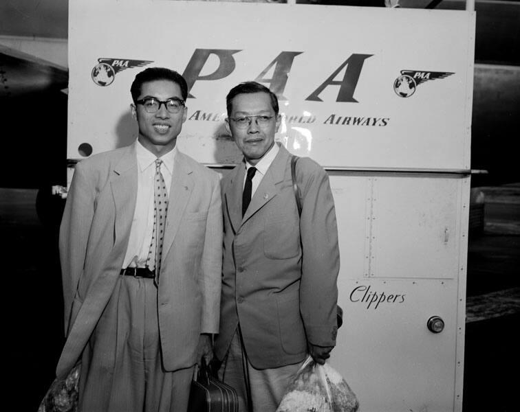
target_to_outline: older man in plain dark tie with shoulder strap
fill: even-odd
[[[274,93],[241,83],[226,103],[226,127],[244,161],[221,182],[224,261],[215,354],[241,410],[275,411],[307,355],[323,364],[336,343],[334,200],[325,170],[300,159],[299,216],[291,155],[274,143],[281,123]]]

